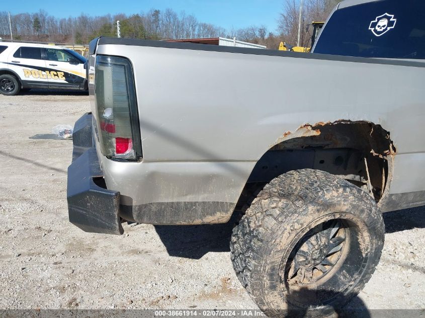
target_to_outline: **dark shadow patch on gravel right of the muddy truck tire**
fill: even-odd
[[[383,215],[385,233],[425,228],[425,206],[386,212]]]

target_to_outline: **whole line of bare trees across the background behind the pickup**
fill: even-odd
[[[298,34],[299,5],[301,0],[283,0],[282,12],[276,13],[278,29],[266,26],[249,26],[226,30],[220,26],[199,21],[185,12],[173,9],[151,9],[133,15],[116,14],[56,18],[46,11],[11,15],[14,40],[88,44],[98,36],[116,36],[116,21],[120,21],[123,38],[152,40],[236,37],[238,40],[277,48],[280,41],[296,44]],[[311,21],[324,20],[337,0],[304,0],[301,23],[301,45],[307,46],[311,36]],[[266,21],[265,21],[266,23]],[[0,12],[0,37],[10,39],[8,12]]]

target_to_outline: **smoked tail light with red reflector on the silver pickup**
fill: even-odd
[[[142,157],[133,70],[122,57],[98,55],[95,94],[99,143],[111,159],[138,160]]]

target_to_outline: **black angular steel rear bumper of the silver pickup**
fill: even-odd
[[[66,191],[69,222],[85,232],[123,234],[120,192],[105,186],[90,113],[75,122],[72,138],[72,163],[68,167]]]

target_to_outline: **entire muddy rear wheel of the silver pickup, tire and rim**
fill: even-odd
[[[233,229],[233,267],[269,317],[339,312],[372,276],[384,244],[375,200],[319,170],[268,183]]]

